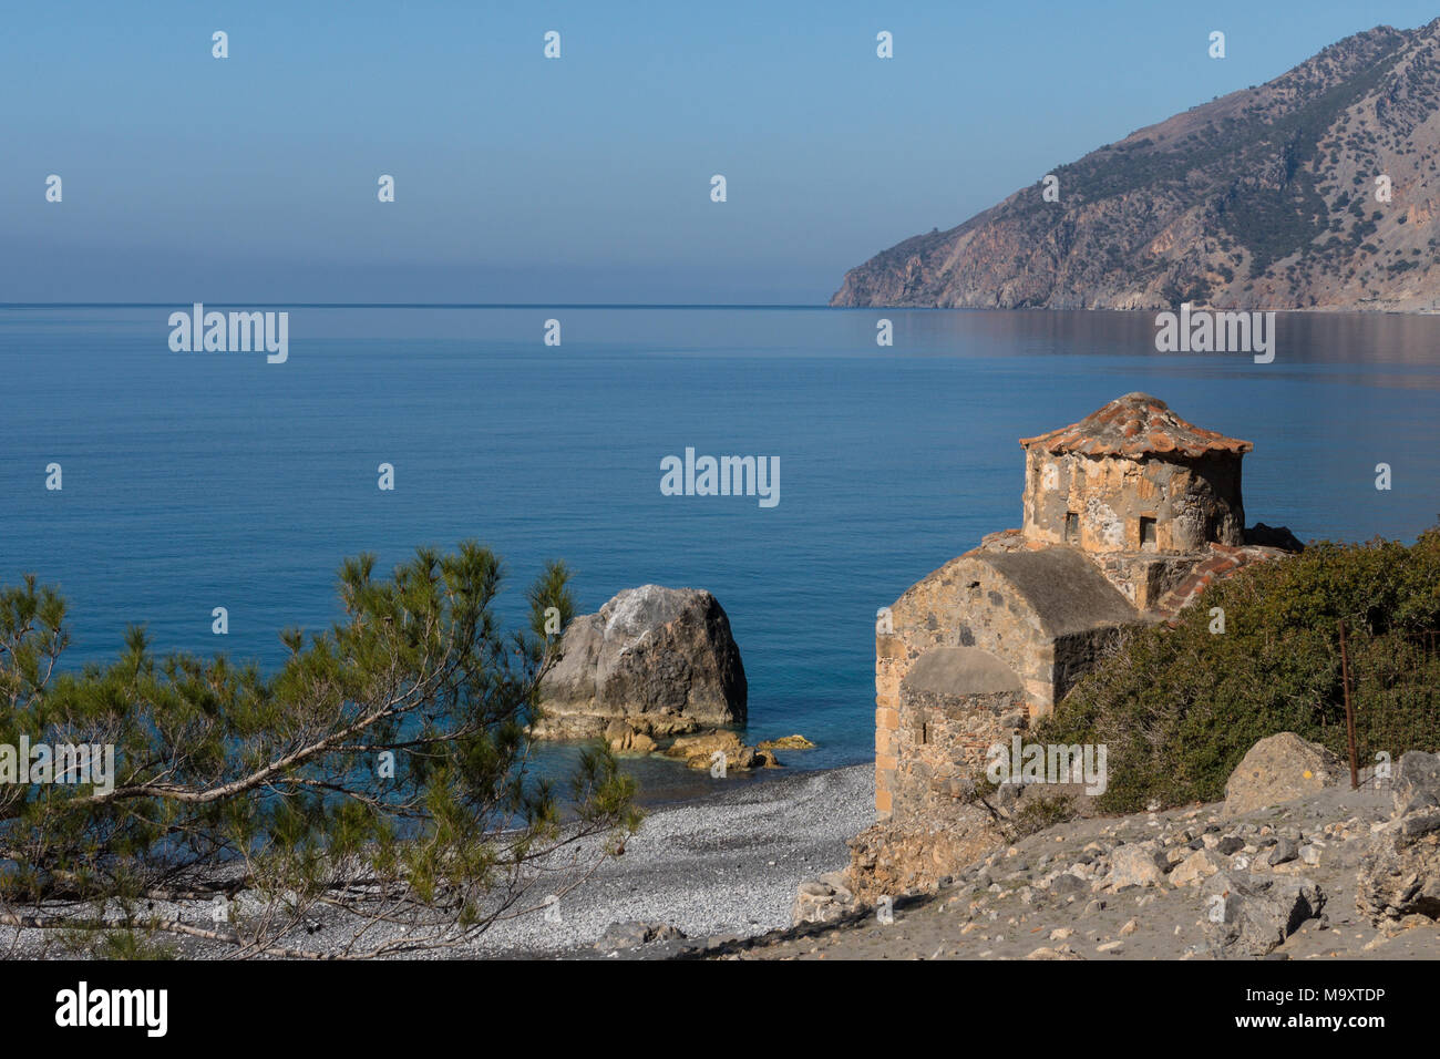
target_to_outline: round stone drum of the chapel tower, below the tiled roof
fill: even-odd
[[[1067,514],[1076,516],[1067,524]],[[1153,520],[1153,535],[1142,533]],[[1025,540],[1090,553],[1202,550],[1244,543],[1240,457],[1129,460],[1025,450]]]

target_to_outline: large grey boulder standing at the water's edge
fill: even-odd
[[[541,739],[615,732],[649,736],[739,725],[746,679],[730,620],[693,588],[644,585],[619,592],[598,614],[575,618],[540,683]]]

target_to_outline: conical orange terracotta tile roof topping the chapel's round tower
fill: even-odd
[[[1126,393],[1084,419],[1060,429],[1021,438],[1025,448],[1040,445],[1047,452],[1081,452],[1084,455],[1145,455],[1201,457],[1205,452],[1234,452],[1243,455],[1254,448],[1248,441],[1227,438],[1185,422],[1159,398],[1149,393]]]

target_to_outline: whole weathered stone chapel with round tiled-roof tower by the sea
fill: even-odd
[[[1282,552],[1246,545],[1247,441],[1129,393],[1021,439],[1024,523],[912,585],[876,627],[876,811],[960,794],[994,743],[1048,713],[1123,630],[1214,576]]]

